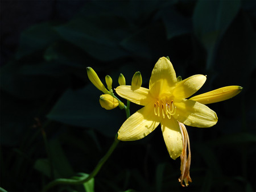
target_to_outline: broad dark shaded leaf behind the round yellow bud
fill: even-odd
[[[73,126],[94,128],[106,136],[114,136],[125,121],[125,111],[105,110],[100,106],[101,91],[92,84],[83,89],[68,89],[47,117]],[[104,122],[104,123],[102,123]]]

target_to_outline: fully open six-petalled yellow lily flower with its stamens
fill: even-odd
[[[193,127],[211,127],[217,123],[217,115],[209,107],[185,98],[203,86],[206,77],[195,75],[177,82],[171,62],[162,57],[156,62],[150,78],[149,89],[118,86],[115,91],[121,97],[144,106],[128,118],[118,131],[118,139],[132,141],[142,139],[161,124],[164,141],[171,158],[180,156],[183,149],[179,122]]]

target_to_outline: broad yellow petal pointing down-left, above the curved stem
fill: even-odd
[[[154,131],[160,123],[160,118],[153,111],[154,105],[152,104],[144,106],[131,115],[119,129],[117,139],[122,141],[139,140]]]

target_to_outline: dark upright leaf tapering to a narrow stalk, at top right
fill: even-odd
[[[207,69],[212,68],[216,45],[240,10],[240,1],[197,2],[193,13],[196,36],[207,49]]]

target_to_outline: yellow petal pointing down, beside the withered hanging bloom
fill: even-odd
[[[168,152],[171,158],[175,160],[180,156],[183,148],[179,123],[174,118],[164,118],[161,122],[161,128]]]

